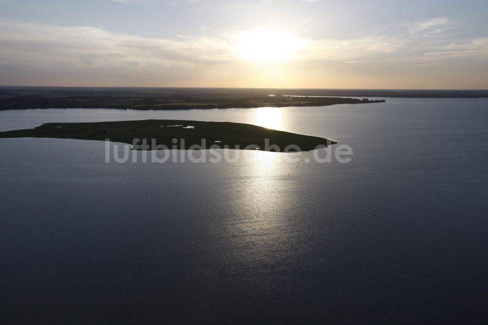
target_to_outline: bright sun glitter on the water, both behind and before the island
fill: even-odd
[[[257,108],[251,123],[284,130],[283,109]],[[288,181],[296,165],[286,163],[285,153],[244,150],[242,155],[242,164],[228,165],[235,180],[223,194],[228,217],[215,229],[219,245],[225,247],[219,258],[232,273],[252,274],[263,264],[274,271],[283,267],[283,252],[297,247],[290,233],[296,220],[289,214],[290,208],[296,211],[300,183]]]

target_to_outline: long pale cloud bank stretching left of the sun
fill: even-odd
[[[3,63],[120,66],[211,64],[230,60],[226,41],[211,37],[144,38],[89,26],[53,26],[0,20]],[[131,63],[133,65],[133,63]],[[129,64],[130,65],[130,64]]]

